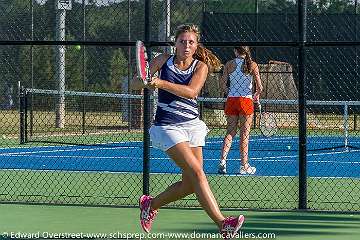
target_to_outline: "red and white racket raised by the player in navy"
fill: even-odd
[[[149,62],[146,48],[142,41],[136,41],[136,72],[138,78],[146,85],[150,81]]]

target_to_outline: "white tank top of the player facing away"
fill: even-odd
[[[251,74],[245,75],[241,71],[244,62],[243,58],[235,58],[236,68],[229,74],[230,86],[228,97],[252,98],[253,77]]]

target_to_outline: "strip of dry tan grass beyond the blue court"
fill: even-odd
[[[298,117],[296,113],[276,113],[277,122],[280,129],[297,129]],[[52,132],[52,131],[79,131],[82,127],[82,112],[66,112],[66,128],[59,129],[55,127],[55,113],[46,111],[34,112],[34,132]],[[18,111],[0,110],[0,134],[16,135],[19,131],[20,116]],[[212,128],[223,129],[226,126],[226,118],[222,110],[206,110],[203,113],[204,121]],[[28,120],[29,121],[29,120]],[[328,130],[343,131],[343,116],[338,114],[308,114],[309,130]],[[85,115],[86,127],[91,129],[116,129],[126,127],[123,122],[121,112],[87,112]],[[258,121],[256,122],[258,126]],[[359,125],[355,126],[355,118],[349,117],[349,129],[351,131],[360,131]]]

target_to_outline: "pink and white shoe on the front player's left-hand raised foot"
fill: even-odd
[[[139,199],[140,225],[147,233],[150,232],[152,223],[158,213],[156,210],[151,210],[152,199],[152,197],[147,195],[142,195]]]

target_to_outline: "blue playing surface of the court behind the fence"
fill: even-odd
[[[250,164],[255,176],[297,176],[298,138],[254,136],[250,140]],[[311,177],[360,178],[360,138],[312,137],[307,141],[308,175]],[[94,146],[37,146],[0,149],[0,169],[136,172],[143,168],[142,142],[118,142]],[[222,138],[208,138],[204,169],[217,174]],[[342,147],[338,147],[342,146]],[[353,147],[355,146],[355,147]],[[322,150],[319,150],[322,148]],[[228,155],[228,174],[240,168],[238,139]],[[317,149],[317,150],[315,150]],[[150,150],[151,173],[179,173],[179,168],[159,149]]]

